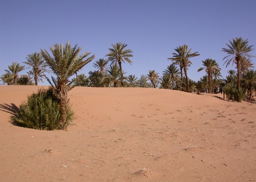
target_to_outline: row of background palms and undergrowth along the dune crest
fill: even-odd
[[[188,77],[188,67],[192,64],[190,58],[197,57],[200,53],[192,52],[188,45],[181,45],[174,49],[175,52],[171,54],[172,57],[167,58],[172,63],[163,71],[161,77],[155,70],[149,70],[148,74],[141,75],[140,78],[133,74],[125,76],[126,73],[122,69],[122,63],[128,62],[132,64],[131,57],[133,57],[131,49],[126,47],[127,45],[121,42],[113,44],[112,48],[108,49],[108,54],[105,55],[106,59],[100,58],[95,61],[93,64],[95,70],[89,71],[88,77],[85,74],[78,74],[79,70],[82,69],[81,67],[81,69],[74,72],[75,78],[66,81],[70,86],[159,87],[185,92],[195,91],[198,94],[202,92],[223,92],[223,99],[237,101],[241,101],[246,95],[249,96],[251,101],[253,91],[256,89],[256,72],[251,69],[253,67],[251,59],[254,57],[251,55],[253,45],[249,45],[248,39],[244,40],[241,37],[233,38],[226,44],[226,48],[222,48],[222,51],[227,54],[223,58],[224,64],[226,66],[231,63],[235,64],[236,70],[229,70],[229,75],[226,78],[222,78],[221,69],[217,61],[207,58],[202,61],[202,67],[198,69],[198,72],[204,70],[206,75],[197,82]],[[43,81],[46,78],[45,73],[50,72],[48,68],[51,66],[47,63],[46,58],[56,59],[59,56],[54,52],[54,48],[50,48],[50,50],[53,57],[46,50],[41,50],[40,53],[29,54],[26,57],[27,61],[23,63],[31,68],[27,75],[19,77],[18,73],[24,70],[25,66],[13,62],[12,65],[8,66],[9,70],[5,70],[6,73],[1,76],[1,80],[7,85],[38,85],[39,81]],[[86,52],[84,55],[88,56],[89,52]],[[94,59],[95,55],[91,58]],[[66,65],[56,66],[66,67]],[[72,68],[69,69],[72,70]],[[56,71],[52,68],[51,70],[56,74]],[[49,78],[46,79],[50,82]]]

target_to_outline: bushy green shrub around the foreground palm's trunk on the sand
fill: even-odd
[[[11,117],[13,125],[38,130],[65,129],[72,121],[73,112],[68,105],[66,124],[60,127],[60,104],[53,95],[53,90],[40,89],[28,96],[27,102],[20,105],[19,112]]]

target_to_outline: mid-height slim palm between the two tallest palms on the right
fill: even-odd
[[[201,70],[205,70],[205,72],[208,75],[208,81],[209,81],[209,87],[210,87],[210,93],[213,93],[213,73],[216,71],[220,71],[220,67],[217,64],[217,62],[213,59],[206,59],[203,62],[204,67],[200,67],[197,72]]]

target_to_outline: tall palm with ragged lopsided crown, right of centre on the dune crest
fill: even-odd
[[[183,67],[185,77],[186,77],[186,88],[187,92],[189,92],[189,78],[187,77],[187,67],[192,64],[192,62],[189,60],[191,57],[199,56],[200,54],[198,52],[191,53],[191,49],[188,49],[187,45],[182,45],[174,49],[176,52],[172,53],[173,57],[168,58],[168,60],[174,61],[175,64],[180,64],[181,70]],[[182,72],[181,72],[182,73]],[[183,75],[181,75],[182,79]],[[183,79],[182,79],[183,80]]]

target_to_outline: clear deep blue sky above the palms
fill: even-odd
[[[79,72],[87,76],[112,44],[123,42],[134,55],[132,65],[123,64],[127,74],[162,75],[174,48],[187,44],[200,53],[188,77],[205,75],[197,69],[206,58],[215,59],[225,77],[235,65],[223,66],[221,48],[235,37],[256,45],[256,0],[0,0],[0,75],[13,61],[24,65],[27,54],[69,40],[96,54]]]

